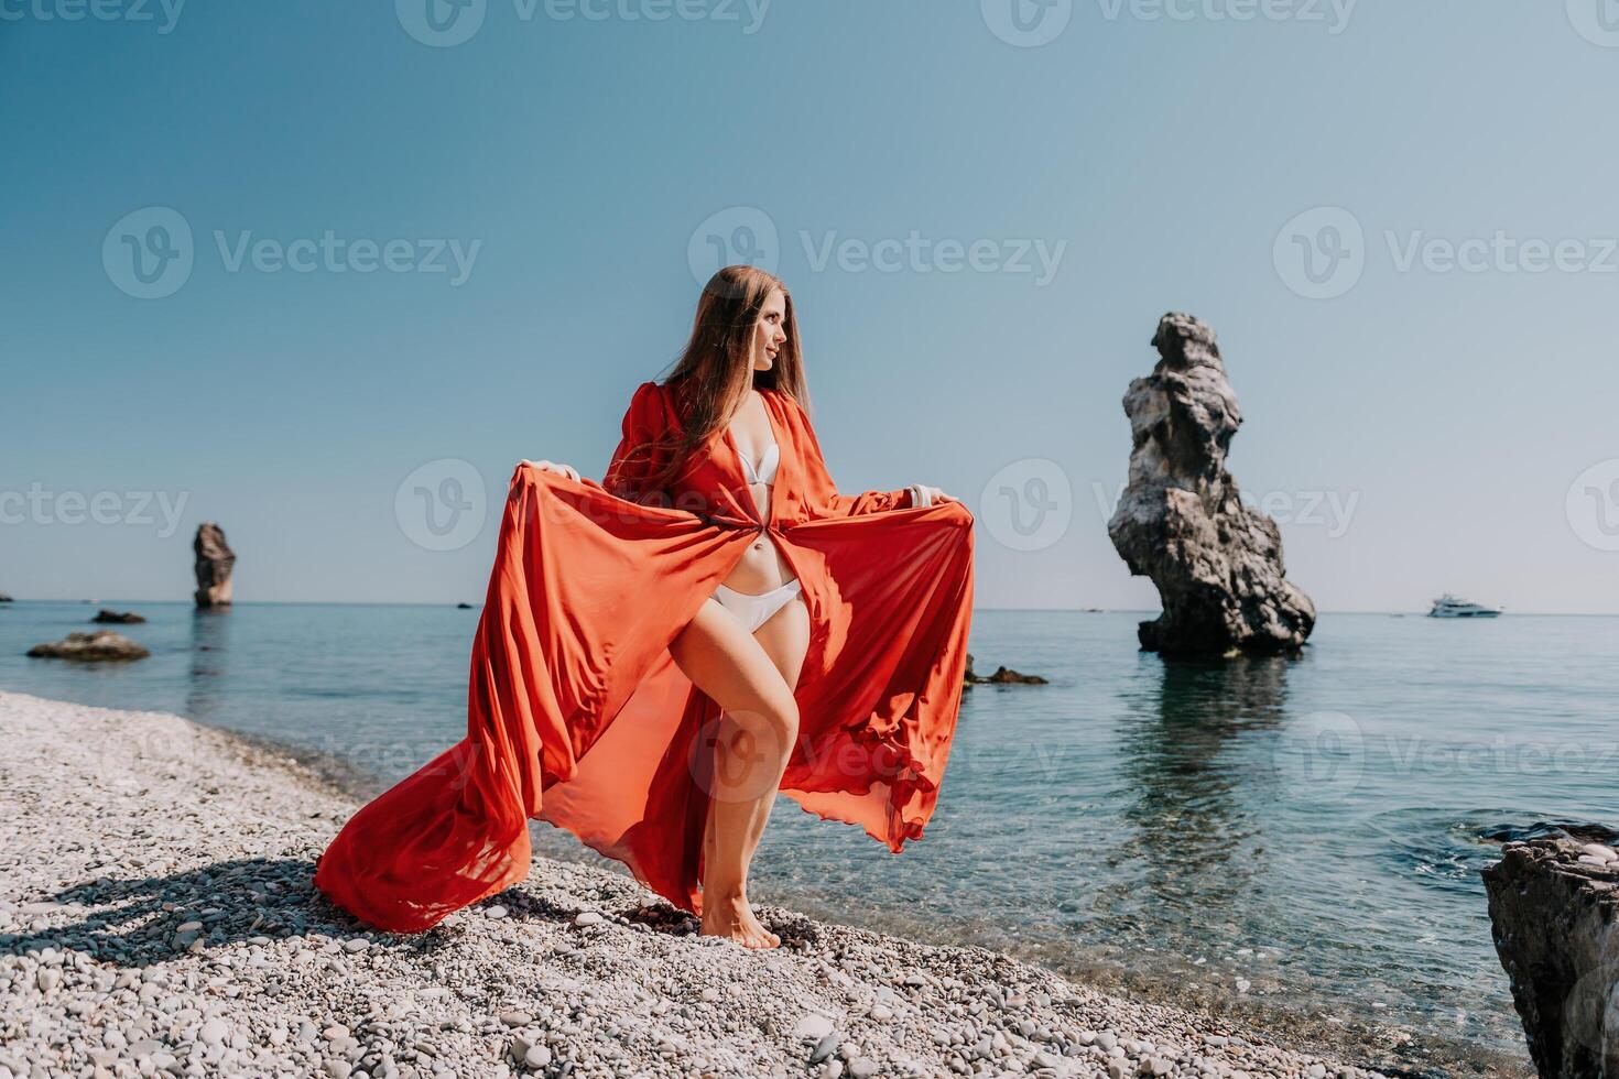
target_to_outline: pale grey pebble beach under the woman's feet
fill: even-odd
[[[6,691],[0,733],[16,804],[0,1079],[34,1063],[350,1079],[570,1060],[576,1076],[1383,1074],[1247,1018],[772,904],[759,916],[784,946],[748,953],[690,935],[628,874],[539,853],[525,883],[427,933],[374,932],[309,882],[369,776],[175,715]],[[811,1066],[827,1035],[839,1051]]]

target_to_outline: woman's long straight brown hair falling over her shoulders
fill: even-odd
[[[771,290],[782,290],[782,332],[787,340],[769,370],[753,370],[753,333]],[[730,424],[748,385],[776,390],[810,408],[798,319],[793,294],[779,277],[753,265],[727,265],[709,278],[698,298],[698,312],[675,369],[664,379],[680,413],[678,432],[646,443],[644,451],[669,453],[669,463],[644,480],[646,490],[662,490],[699,446]],[[631,451],[640,453],[641,450]]]

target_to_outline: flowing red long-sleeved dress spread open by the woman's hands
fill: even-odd
[[[674,487],[631,450],[678,430],[646,382],[604,484],[520,464],[473,641],[466,738],[361,807],[314,883],[374,927],[421,932],[523,880],[528,822],[567,828],[701,914],[719,705],[669,655],[769,531],[810,608],[798,743],[780,793],[895,854],[921,838],[962,702],[973,514],[905,490],[842,495],[798,401],[761,390],[780,464],[769,514],[729,432]]]

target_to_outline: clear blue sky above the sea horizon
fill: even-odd
[[[214,519],[243,600],[476,600],[730,251],[981,607],[1156,605],[1104,524],[1188,311],[1323,610],[1619,611],[1613,0],[427,2],[0,0],[0,590],[181,599]]]

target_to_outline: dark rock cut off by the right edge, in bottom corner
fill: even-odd
[[[1489,920],[1541,1079],[1613,1079],[1619,853],[1608,830],[1570,831],[1501,848],[1501,861],[1483,872]]]

